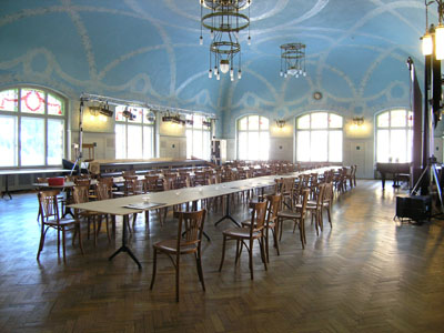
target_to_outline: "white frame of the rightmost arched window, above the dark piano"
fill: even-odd
[[[393,111],[404,111],[405,112],[405,125],[403,127],[396,127],[396,125],[392,125],[392,112]],[[380,117],[383,117],[385,114],[389,114],[389,125],[387,127],[380,127],[379,124],[379,119]],[[407,108],[392,108],[392,109],[386,109],[386,110],[382,110],[377,113],[375,113],[374,115],[374,122],[375,122],[375,132],[374,132],[374,138],[375,138],[375,152],[374,152],[374,159],[376,163],[410,163],[412,162],[412,150],[408,152],[408,137],[411,138],[410,141],[410,145],[412,148],[413,145],[413,111],[408,110]],[[405,161],[396,161],[396,159],[393,160],[393,154],[391,153],[391,141],[392,141],[392,131],[396,131],[396,130],[403,130],[405,131]],[[379,133],[380,131],[389,131],[389,142],[386,143],[389,147],[389,158],[385,161],[380,161],[379,160]],[[392,159],[392,161],[390,160]]]

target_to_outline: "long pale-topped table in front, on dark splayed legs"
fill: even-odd
[[[264,175],[264,176],[231,181],[220,184],[184,188],[184,189],[170,190],[163,192],[151,192],[148,194],[123,196],[123,198],[102,200],[102,201],[91,201],[80,204],[70,204],[69,208],[123,216],[122,245],[109,258],[109,260],[112,260],[115,255],[118,255],[121,252],[127,252],[131,256],[131,259],[138,264],[139,269],[141,269],[142,265],[140,264],[139,260],[135,258],[131,249],[127,246],[125,224],[129,221],[130,214],[141,213],[143,211],[150,211],[154,209],[168,208],[176,204],[183,204],[190,201],[199,201],[199,200],[225,195],[226,213],[216,223],[220,223],[225,219],[230,219],[233,223],[239,225],[238,221],[235,221],[230,215],[230,209],[229,209],[230,194],[248,190],[263,189],[266,186],[274,185],[275,179],[299,176],[301,173],[313,173],[313,172],[321,173],[331,168],[321,168],[303,172],[292,172],[289,174]],[[144,198],[147,196],[149,198],[150,206],[144,205]],[[140,206],[131,208],[134,205],[140,205]]]

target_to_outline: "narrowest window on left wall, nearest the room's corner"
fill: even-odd
[[[204,115],[186,114],[186,159],[210,160],[211,121]]]

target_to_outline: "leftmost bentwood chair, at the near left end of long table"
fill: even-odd
[[[60,233],[62,234],[62,249],[63,249],[63,263],[67,262],[65,255],[65,232],[70,230],[74,230],[74,236],[72,238],[72,244],[74,244],[75,234],[79,234],[79,245],[80,251],[83,254],[83,244],[82,236],[80,232],[80,223],[78,220],[71,219],[60,219],[59,214],[59,203],[58,198],[59,191],[40,191],[38,192],[39,199],[39,211],[41,218],[41,234],[40,234],[40,244],[39,251],[37,252],[37,260],[40,259],[40,253],[43,250],[44,245],[44,236],[47,231],[52,228],[57,231],[57,252],[60,255]]]

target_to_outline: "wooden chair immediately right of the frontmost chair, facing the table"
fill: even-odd
[[[266,215],[268,202],[250,202],[250,208],[253,210],[251,213],[251,221],[249,226],[243,228],[232,228],[223,231],[223,245],[222,245],[222,259],[219,266],[219,272],[222,271],[223,261],[225,259],[225,244],[228,240],[236,241],[236,255],[235,263],[241,254],[243,245],[245,245],[249,251],[249,265],[251,280],[253,280],[253,243],[258,240],[261,249],[261,258],[266,271],[266,258],[264,249],[264,229],[265,229],[265,215]],[[246,241],[249,244],[246,244]],[[242,248],[239,245],[242,244]]]

